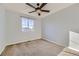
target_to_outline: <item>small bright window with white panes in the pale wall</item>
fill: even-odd
[[[34,20],[29,19],[26,17],[21,17],[22,22],[22,31],[25,32],[26,30],[33,30],[34,28]]]

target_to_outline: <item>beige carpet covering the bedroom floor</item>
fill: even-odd
[[[56,56],[64,47],[44,39],[38,39],[7,46],[2,56]]]

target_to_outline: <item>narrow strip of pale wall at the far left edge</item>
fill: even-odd
[[[5,10],[0,6],[0,53],[5,47]]]

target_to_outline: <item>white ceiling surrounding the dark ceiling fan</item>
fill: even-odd
[[[31,4],[36,6],[35,3],[31,3]],[[42,18],[42,17],[48,16],[52,13],[55,13],[57,11],[60,11],[64,8],[67,8],[67,7],[71,6],[72,3],[48,3],[42,9],[50,10],[50,12],[46,13],[46,12],[38,11],[38,12],[41,13],[41,16],[38,16],[37,12],[28,13],[30,11],[33,11],[34,9],[30,6],[28,6],[28,5],[25,5],[24,3],[3,3],[1,5],[3,5],[7,10],[20,12],[20,13],[27,14],[27,15],[30,15],[30,16],[33,16],[33,17],[36,17],[36,18],[38,18],[38,17]]]

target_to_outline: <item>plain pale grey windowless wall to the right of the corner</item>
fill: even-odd
[[[42,37],[62,46],[69,45],[69,31],[79,33],[79,4],[42,19]]]

